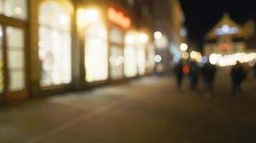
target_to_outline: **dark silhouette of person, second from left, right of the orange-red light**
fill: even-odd
[[[196,61],[191,61],[189,65],[189,77],[191,80],[191,90],[195,91],[197,90],[197,84],[198,84],[198,77],[199,77],[199,67],[196,64]]]

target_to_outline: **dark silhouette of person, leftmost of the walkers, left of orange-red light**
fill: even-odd
[[[179,61],[178,64],[175,65],[174,67],[174,71],[175,71],[175,76],[176,76],[176,84],[177,84],[177,89],[180,90],[180,87],[181,87],[181,83],[182,83],[182,80],[183,80],[183,76],[184,76],[184,73],[183,73],[183,61]]]

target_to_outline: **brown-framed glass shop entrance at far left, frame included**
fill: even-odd
[[[27,97],[25,28],[19,23],[0,21],[0,98],[1,101]]]

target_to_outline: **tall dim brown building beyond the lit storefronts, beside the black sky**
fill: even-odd
[[[156,52],[163,59],[157,65],[168,72],[170,63],[180,59],[180,44],[186,41],[185,16],[179,0],[152,0],[151,9],[153,29],[163,34],[155,39]]]

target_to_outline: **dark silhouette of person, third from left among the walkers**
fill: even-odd
[[[204,87],[206,90],[206,96],[211,97],[213,95],[214,79],[216,75],[216,66],[207,62],[201,69],[201,73],[204,79]]]

